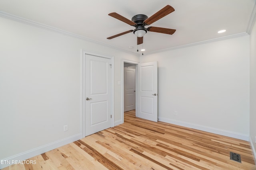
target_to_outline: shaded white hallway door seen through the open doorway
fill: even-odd
[[[124,68],[124,111],[135,109],[136,69]]]

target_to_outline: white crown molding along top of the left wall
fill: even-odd
[[[71,33],[71,32],[68,32],[68,31],[64,31],[62,29],[58,29],[56,27],[52,27],[52,26],[49,26],[49,25],[45,25],[43,23],[38,23],[36,21],[32,21],[32,20],[28,20],[26,18],[22,18],[22,17],[18,17],[18,16],[14,16],[12,14],[8,14],[6,12],[2,12],[0,11],[0,17],[2,18],[6,18],[6,19],[9,19],[9,20],[13,20],[13,21],[18,21],[18,22],[21,22],[21,23],[25,23],[25,24],[28,24],[28,25],[32,25],[32,26],[35,26],[35,27],[39,27],[39,28],[42,28],[42,29],[47,29],[47,30],[50,30],[50,31],[54,31],[54,32],[57,32],[57,33],[61,33],[61,34],[64,34],[64,35],[69,35],[69,36],[72,36],[72,37],[76,37],[76,38],[79,38],[79,39],[83,39],[85,41],[90,41],[92,43],[96,43],[96,44],[99,44],[99,45],[104,45],[104,46],[107,46],[107,47],[111,47],[111,48],[114,48],[114,49],[117,49],[117,50],[120,50],[120,51],[124,51],[126,53],[131,53],[131,54],[135,54],[135,55],[138,55],[137,53],[133,53],[131,51],[126,51],[124,49],[120,49],[118,47],[115,47],[115,46],[112,46],[112,45],[109,45],[109,44],[106,44],[106,43],[102,43],[102,42],[99,42],[99,41],[96,41],[94,39],[90,39],[90,38],[87,38],[87,37],[84,37],[82,35],[78,35],[78,34],[75,34],[75,33]]]

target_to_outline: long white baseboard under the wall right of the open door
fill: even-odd
[[[158,118],[159,118],[159,121],[163,121],[166,123],[171,123],[174,125],[189,127],[189,128],[197,129],[200,131],[206,131],[206,132],[210,132],[210,133],[214,133],[214,134],[218,134],[218,135],[223,135],[223,136],[227,136],[227,137],[241,139],[244,141],[249,141],[249,135],[240,134],[240,133],[236,133],[236,132],[232,132],[232,131],[225,131],[222,129],[216,129],[216,128],[197,125],[197,124],[193,124],[193,123],[187,123],[187,122],[178,121],[178,120],[174,120],[174,119],[168,119],[168,118],[164,118],[164,117],[158,117]]]

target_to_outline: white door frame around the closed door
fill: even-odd
[[[111,119],[111,127],[114,127],[114,56],[109,56],[109,55],[105,55],[105,54],[101,54],[101,53],[96,53],[93,51],[87,51],[82,49],[81,50],[81,138],[85,137],[85,55],[93,55],[96,57],[103,57],[103,58],[107,58],[110,59],[110,63],[112,66],[111,69],[111,82],[110,82],[110,86],[111,86],[111,115],[112,115],[112,119]]]

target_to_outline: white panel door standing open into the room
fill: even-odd
[[[138,64],[138,117],[158,120],[157,62]]]

